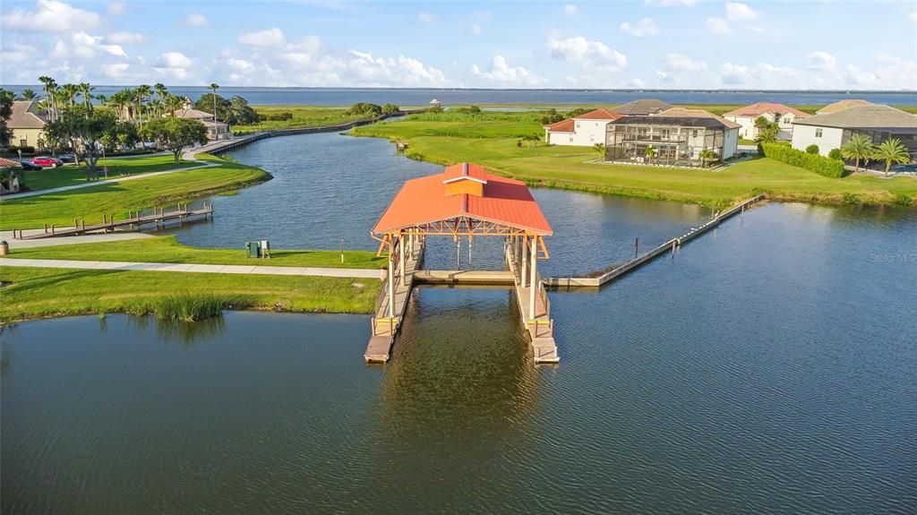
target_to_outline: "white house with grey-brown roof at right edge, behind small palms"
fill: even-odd
[[[796,120],[792,146],[805,150],[810,145],[817,145],[818,152],[827,156],[854,134],[865,134],[876,145],[890,138],[900,139],[911,152],[911,159],[917,156],[917,115],[882,104],[857,104]]]

